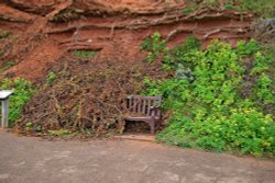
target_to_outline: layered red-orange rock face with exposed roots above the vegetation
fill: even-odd
[[[16,65],[4,72],[35,80],[70,50],[100,50],[100,58],[141,58],[141,42],[160,32],[169,47],[194,35],[207,45],[213,38],[231,44],[250,37],[252,16],[222,7],[184,13],[184,0],[2,0],[0,31],[3,60]]]

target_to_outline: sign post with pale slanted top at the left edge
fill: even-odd
[[[0,101],[2,102],[1,128],[9,127],[9,96],[13,93],[11,90],[0,91]]]

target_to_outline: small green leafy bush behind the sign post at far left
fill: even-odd
[[[1,90],[14,90],[14,94],[10,98],[9,125],[13,126],[14,122],[20,117],[24,104],[34,94],[34,88],[30,81],[22,78],[15,80],[3,79],[0,81]]]

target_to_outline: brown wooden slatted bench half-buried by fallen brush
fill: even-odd
[[[162,96],[129,95],[127,108],[130,112],[125,121],[145,122],[150,125],[151,134],[155,133],[156,123],[162,119]]]

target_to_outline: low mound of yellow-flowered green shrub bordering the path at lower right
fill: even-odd
[[[202,119],[177,114],[173,116],[170,125],[158,134],[158,140],[183,147],[255,156],[275,152],[273,119],[256,110],[232,108],[227,115],[212,113]],[[198,115],[195,118],[199,118]]]

